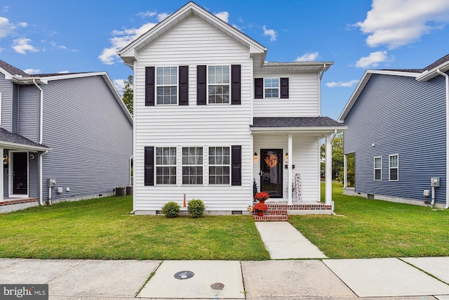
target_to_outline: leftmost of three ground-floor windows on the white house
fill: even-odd
[[[176,147],[156,147],[156,184],[176,184]]]

